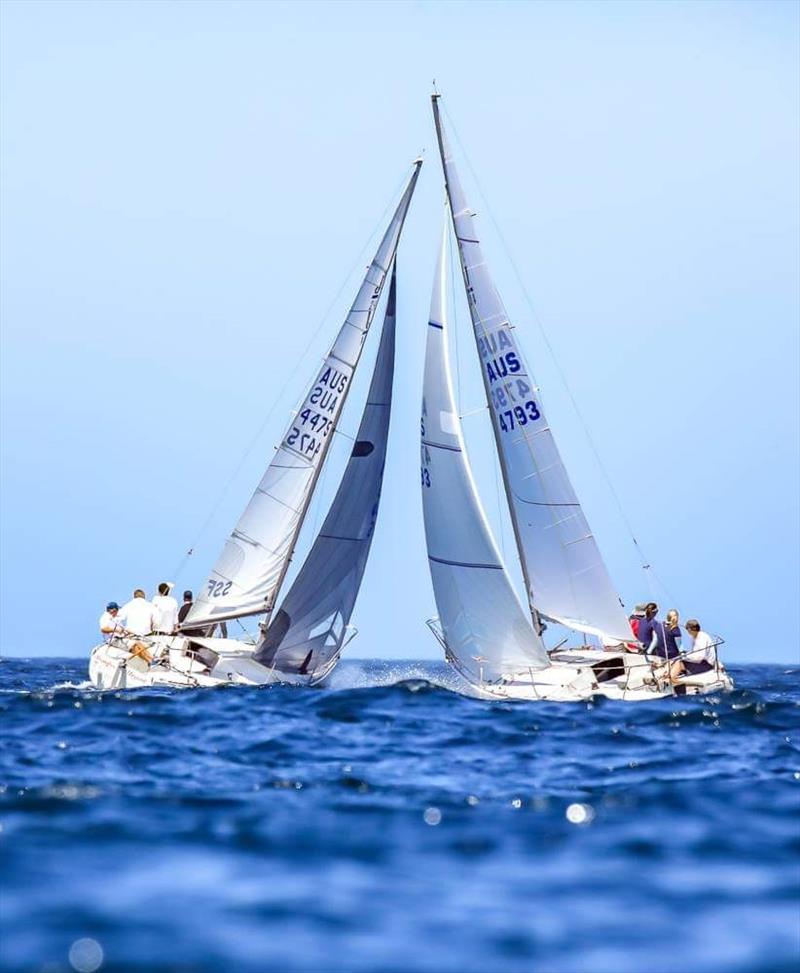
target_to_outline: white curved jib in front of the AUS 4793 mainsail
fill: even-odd
[[[475,489],[447,351],[447,224],[436,267],[422,393],[422,508],[439,623],[476,681],[549,659],[517,599]]]

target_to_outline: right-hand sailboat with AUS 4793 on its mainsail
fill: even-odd
[[[428,327],[422,416],[422,493],[439,611],[434,634],[480,695],[625,699],[669,695],[657,663],[631,651],[632,631],[545,416],[533,373],[494,285],[445,133],[434,124],[495,448],[525,586],[523,612],[480,506],[452,395],[446,343],[446,238]],[[456,501],[455,498],[458,498]],[[577,633],[548,652],[547,623]],[[596,638],[597,650],[587,644]],[[574,679],[569,680],[569,672]],[[731,688],[719,661],[683,692]]]

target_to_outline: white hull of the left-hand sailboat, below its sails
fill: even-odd
[[[121,640],[103,642],[92,649],[89,678],[98,689],[137,689],[148,686],[206,688],[213,686],[267,686],[292,683],[307,686],[325,672],[310,675],[268,669],[253,659],[255,646],[236,639],[187,639],[180,635],[152,635],[142,639],[156,661],[148,664],[131,655]],[[189,650],[189,646],[192,650]],[[195,651],[199,647],[199,651]],[[335,659],[333,662],[335,663]]]

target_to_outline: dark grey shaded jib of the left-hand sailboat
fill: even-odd
[[[394,376],[396,269],[353,451],[322,530],[255,658],[281,672],[324,671],[341,651],[367,566],[386,463]]]

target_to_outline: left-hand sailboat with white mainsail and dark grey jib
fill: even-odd
[[[396,253],[421,165],[421,159],[414,163],[344,324],[180,630],[96,646],[89,663],[96,686],[308,685],[335,666],[354,634],[350,618],[378,515],[394,375]],[[322,528],[274,611],[390,272],[350,459]],[[260,618],[257,639],[216,637],[222,623],[245,617]],[[152,662],[131,654],[134,641],[145,645]]]

